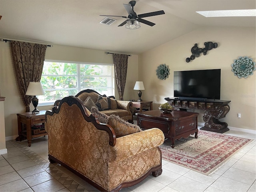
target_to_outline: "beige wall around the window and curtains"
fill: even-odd
[[[75,48],[68,46],[53,45],[46,49],[46,60],[63,60],[76,62],[113,63],[112,54],[105,54],[104,51]],[[138,56],[132,55],[128,58],[128,69],[124,100],[129,100],[137,95],[133,86],[138,78]],[[15,139],[18,135],[17,113],[25,112],[25,107],[20,98],[12,57],[10,43],[0,43],[0,90],[1,96],[6,97],[4,102],[5,132],[8,139]],[[115,97],[119,94],[115,86]],[[30,108],[33,108],[30,105]],[[39,110],[51,110],[52,106],[41,106]]]

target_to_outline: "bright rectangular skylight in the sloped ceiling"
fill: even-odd
[[[256,16],[256,9],[196,11],[196,12],[205,17],[255,17]]]

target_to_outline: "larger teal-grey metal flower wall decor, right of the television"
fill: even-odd
[[[247,78],[249,75],[253,75],[253,71],[255,71],[255,62],[252,61],[252,58],[248,58],[247,56],[239,57],[234,60],[231,67],[234,76],[238,76],[238,78]]]

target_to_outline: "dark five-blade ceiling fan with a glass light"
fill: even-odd
[[[129,5],[128,4],[123,4],[124,8],[128,12],[128,16],[116,16],[116,15],[100,15],[100,16],[110,16],[110,17],[122,17],[122,18],[127,18],[124,22],[122,22],[118,27],[123,26],[124,24],[126,25],[139,25],[138,28],[140,27],[140,23],[144,23],[149,26],[154,26],[155,23],[152,23],[150,21],[144,20],[142,18],[144,17],[151,17],[151,16],[156,16],[156,15],[162,15],[165,14],[164,11],[155,11],[155,12],[150,12],[150,13],[144,13],[144,14],[139,14],[137,15],[136,12],[134,12],[133,7],[135,6],[136,1],[130,1]],[[127,28],[127,27],[126,27]]]

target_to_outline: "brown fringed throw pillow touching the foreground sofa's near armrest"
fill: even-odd
[[[110,115],[107,124],[114,129],[116,138],[142,131],[138,125],[128,123],[116,115]]]

